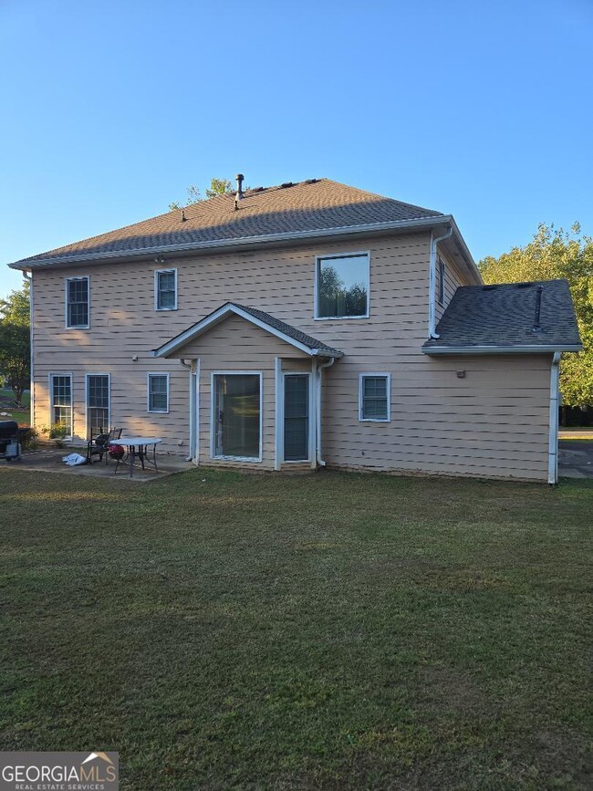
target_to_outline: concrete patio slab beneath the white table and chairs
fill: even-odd
[[[130,467],[127,463],[120,463],[120,468],[115,474],[116,463],[111,461],[109,464],[95,462],[92,464],[80,464],[76,467],[68,467],[62,459],[69,453],[80,453],[85,455],[85,451],[77,448],[42,448],[35,451],[24,451],[16,462],[10,462],[11,468],[15,470],[34,470],[39,473],[61,473],[65,475],[91,475],[97,478],[111,478],[115,481],[136,481],[141,484],[151,481],[158,481],[167,475],[182,473],[186,470],[194,469],[191,462],[186,462],[179,456],[167,454],[157,454],[157,464],[159,469],[154,470],[147,465],[142,470],[140,462],[134,465],[134,474],[130,478]],[[6,462],[0,462],[5,464]]]

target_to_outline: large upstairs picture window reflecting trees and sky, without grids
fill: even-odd
[[[316,318],[369,316],[369,255],[317,258]]]

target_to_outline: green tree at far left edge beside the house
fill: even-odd
[[[0,371],[20,405],[29,386],[31,344],[29,331],[29,284],[0,299]]]

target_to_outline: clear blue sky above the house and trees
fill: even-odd
[[[0,0],[0,296],[239,171],[452,212],[476,260],[593,234],[592,40],[592,0]]]

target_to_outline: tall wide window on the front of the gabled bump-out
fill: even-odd
[[[214,457],[261,459],[261,401],[261,374],[213,374]]]

